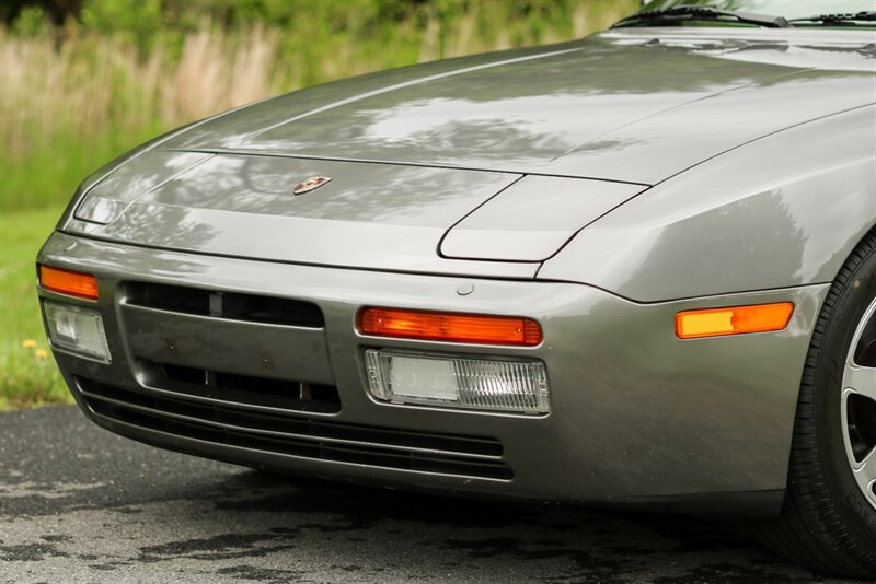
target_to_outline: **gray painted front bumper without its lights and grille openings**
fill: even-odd
[[[136,331],[122,326],[119,282],[301,299],[325,315],[325,351],[342,401],[330,419],[489,436],[502,443],[500,459],[514,476],[473,478],[266,453],[123,424],[84,408],[114,432],[200,456],[333,480],[636,506],[650,501],[673,510],[679,509],[673,501],[683,509],[685,501],[698,500],[708,501],[711,511],[734,501],[757,504],[759,512],[777,509],[804,359],[829,288],[637,304],[574,283],[342,270],[154,250],[62,233],[53,234],[38,260],[100,280],[96,307],[113,363],[55,351],[80,405],[74,376],[148,392],[130,353],[129,337]],[[474,292],[457,294],[463,283],[473,284]],[[39,294],[91,304],[44,290]],[[779,301],[796,306],[783,331],[688,341],[673,334],[675,314],[681,309]],[[354,329],[364,305],[529,316],[541,323],[545,341],[535,348],[494,348],[367,338]],[[245,338],[240,342],[245,347]],[[361,366],[361,352],[373,347],[540,359],[548,367],[552,412],[528,417],[378,402],[365,389]],[[292,360],[295,349],[278,347],[274,357]]]

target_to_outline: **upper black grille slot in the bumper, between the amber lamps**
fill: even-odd
[[[325,326],[320,307],[300,300],[146,282],[126,282],[124,294],[126,304],[159,311],[304,328]]]

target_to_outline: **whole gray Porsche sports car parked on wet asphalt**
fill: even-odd
[[[55,358],[163,448],[746,514],[873,576],[874,25],[873,0],[655,0],[171,132],[41,250]]]

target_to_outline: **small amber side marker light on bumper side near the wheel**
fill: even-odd
[[[791,322],[792,314],[794,304],[791,302],[684,311],[676,315],[676,336],[696,339],[782,330]]]

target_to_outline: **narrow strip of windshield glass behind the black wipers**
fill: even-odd
[[[876,10],[876,0],[652,0],[642,12],[676,7],[707,5],[733,12],[753,12],[786,20],[819,14],[856,14]]]

